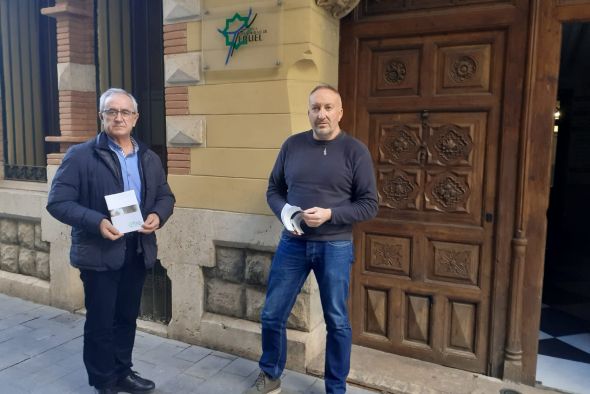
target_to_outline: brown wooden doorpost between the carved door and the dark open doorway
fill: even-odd
[[[519,143],[504,378],[534,384],[562,24],[589,22],[590,0],[533,0]]]

